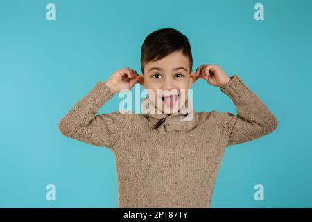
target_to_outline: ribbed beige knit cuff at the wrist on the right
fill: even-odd
[[[220,87],[221,91],[227,94],[234,103],[242,102],[244,99],[248,98],[248,94],[250,94],[250,89],[244,85],[239,76],[234,75],[230,77],[231,80],[223,87]]]

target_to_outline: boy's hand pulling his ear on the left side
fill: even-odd
[[[141,81],[141,78],[144,78],[142,74],[138,75],[137,71],[126,67],[125,69],[119,69],[114,72],[105,82],[105,85],[115,94],[121,92],[122,89],[131,90],[138,80]]]

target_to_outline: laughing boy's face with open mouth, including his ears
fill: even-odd
[[[148,95],[159,110],[173,114],[182,108],[189,87],[196,81],[195,74],[189,69],[189,59],[181,51],[144,66],[142,85],[149,89]]]

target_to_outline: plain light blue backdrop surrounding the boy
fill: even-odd
[[[56,21],[46,20],[51,2]],[[255,3],[265,21],[254,20]],[[279,121],[270,135],[227,148],[211,207],[312,207],[309,0],[1,0],[0,207],[117,207],[112,151],[64,137],[58,123],[98,80],[123,67],[140,72],[144,38],[168,27],[189,37],[193,71],[210,63],[238,74]],[[218,88],[192,88],[196,110],[236,113]],[[257,183],[264,201],[254,200]]]

